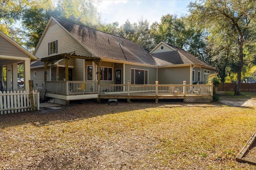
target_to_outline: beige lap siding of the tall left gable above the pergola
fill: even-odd
[[[76,55],[92,56],[82,45],[80,45],[69,33],[67,33],[60,25],[54,24],[48,28],[44,35],[38,50],[36,51],[36,57],[43,58],[52,55],[48,55],[48,43],[58,40],[58,54],[76,52]]]

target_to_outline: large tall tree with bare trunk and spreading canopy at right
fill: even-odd
[[[239,8],[238,8],[238,3]],[[190,3],[190,20],[207,29],[214,38],[214,44],[221,45],[223,34],[232,43],[233,50],[237,51],[236,71],[237,82],[234,95],[240,95],[241,72],[244,59],[244,43],[248,40],[248,35],[252,29],[255,19],[256,1],[252,0],[201,0]],[[250,4],[250,5],[248,5]],[[232,50],[232,49],[230,49]],[[232,57],[232,55],[228,56]]]

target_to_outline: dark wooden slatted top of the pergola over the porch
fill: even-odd
[[[44,57],[41,59],[42,62],[52,62],[60,59],[85,59],[89,61],[96,61],[96,62],[101,62],[101,59],[98,57],[88,57],[88,56],[82,56],[82,55],[75,55],[73,53],[62,53],[58,55],[53,55],[50,57]]]

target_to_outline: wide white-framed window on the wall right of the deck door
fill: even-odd
[[[148,70],[131,69],[131,84],[148,84]]]

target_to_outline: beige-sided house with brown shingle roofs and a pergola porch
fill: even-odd
[[[113,84],[124,91],[128,82],[192,84],[216,72],[170,44],[161,42],[149,53],[129,39],[56,17],[50,18],[34,55],[41,60],[31,64],[31,80],[42,84],[48,97],[62,100],[98,98],[113,91]],[[106,86],[99,90],[99,85]]]

